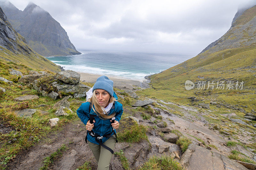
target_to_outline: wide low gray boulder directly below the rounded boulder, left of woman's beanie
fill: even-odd
[[[54,84],[54,87],[57,88],[58,92],[64,92],[67,94],[72,95],[74,98],[81,98],[86,96],[86,91],[91,89],[91,87],[86,86],[84,84],[68,84],[68,83],[60,83],[60,84]]]

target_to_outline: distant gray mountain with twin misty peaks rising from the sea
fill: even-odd
[[[38,54],[43,56],[81,54],[76,51],[60,23],[36,4],[29,3],[23,11],[9,1],[0,1],[0,6],[12,27],[28,41],[28,45]]]

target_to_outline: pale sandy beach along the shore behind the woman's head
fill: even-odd
[[[90,83],[95,83],[97,78],[100,77],[100,74],[89,74],[89,73],[81,73],[77,72],[81,75],[80,80]],[[124,77],[118,77],[118,76],[108,76],[106,75],[110,80],[114,81],[114,87],[122,90],[134,90],[133,88],[140,87],[142,80],[132,80],[132,79],[125,79]]]

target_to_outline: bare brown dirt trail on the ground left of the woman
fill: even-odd
[[[66,144],[68,149],[59,160],[54,161],[52,169],[76,169],[85,161],[90,161],[92,169],[95,169],[97,162],[85,143],[85,135],[86,130],[80,120],[69,123],[61,130],[49,134],[43,142],[18,154],[8,166],[13,170],[38,170],[43,166],[45,157],[55,152],[62,144]]]

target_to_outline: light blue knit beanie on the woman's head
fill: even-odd
[[[113,96],[113,83],[114,82],[112,80],[109,80],[107,76],[102,75],[97,78],[96,83],[93,85],[92,91],[94,91],[95,89],[103,89],[106,90],[110,96]]]

